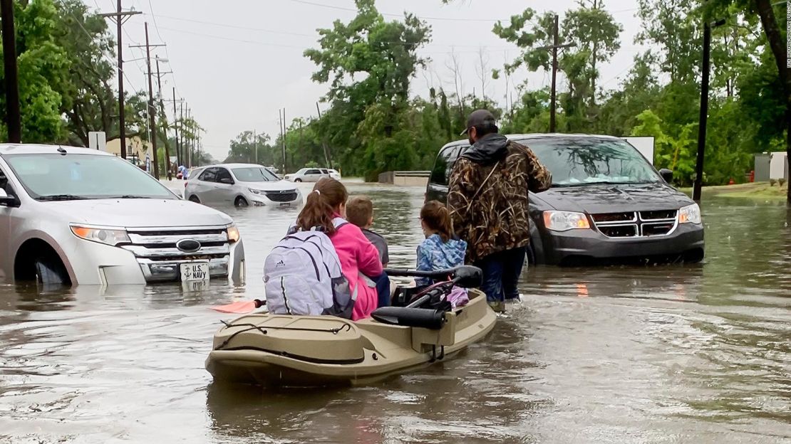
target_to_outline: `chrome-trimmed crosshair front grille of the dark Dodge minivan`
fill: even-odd
[[[601,234],[616,239],[669,235],[676,230],[678,210],[661,209],[592,214]]]

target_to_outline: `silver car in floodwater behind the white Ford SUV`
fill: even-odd
[[[302,194],[293,183],[279,179],[256,164],[220,164],[203,167],[184,185],[188,200],[201,204],[297,205]]]

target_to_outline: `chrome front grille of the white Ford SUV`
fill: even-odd
[[[225,227],[208,228],[130,228],[130,244],[121,246],[137,258],[148,281],[179,280],[180,264],[209,262],[210,276],[227,276],[231,246]],[[200,243],[196,251],[179,250],[180,240]]]

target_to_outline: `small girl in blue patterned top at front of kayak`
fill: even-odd
[[[453,234],[450,212],[445,205],[438,201],[423,205],[420,210],[420,224],[426,240],[418,246],[418,270],[437,271],[464,265],[467,243]],[[422,287],[433,282],[428,278],[419,278],[415,280],[415,284]],[[456,303],[453,305],[455,307]]]

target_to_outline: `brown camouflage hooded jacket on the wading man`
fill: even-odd
[[[467,241],[467,262],[527,246],[528,190],[547,190],[552,175],[524,145],[500,134],[481,138],[456,161],[448,183],[453,228]]]

